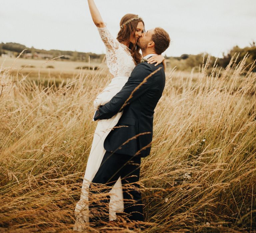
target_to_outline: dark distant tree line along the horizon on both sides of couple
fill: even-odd
[[[71,60],[71,61],[82,61],[88,62],[89,56],[90,61],[101,63],[105,57],[105,54],[95,54],[95,53],[83,53],[77,51],[62,51],[62,50],[44,50],[44,49],[36,49],[34,47],[28,48],[25,45],[19,43],[1,43],[0,44],[0,55],[1,56],[9,56],[9,57],[17,57],[24,49],[24,53],[21,57],[23,58],[32,58],[32,59],[52,59],[59,56],[59,60]],[[242,61],[244,56],[248,53],[248,58],[246,60],[247,70],[250,69],[251,64],[253,64],[256,60],[256,46],[255,42],[252,42],[250,46],[245,48],[239,48],[238,46],[233,47],[226,55],[223,54],[223,58],[218,58],[216,65],[218,67],[226,68],[229,64],[232,56],[236,56],[236,64]],[[177,70],[191,70],[192,67],[195,67],[195,71],[198,70],[199,65],[203,62],[203,57],[205,56],[205,60],[208,54],[182,54],[180,57],[167,57],[166,64],[168,67],[175,67]],[[212,67],[215,63],[216,58],[211,56],[209,60],[209,67]],[[253,72],[256,72],[256,67],[254,66],[252,69]]]

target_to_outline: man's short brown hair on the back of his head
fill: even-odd
[[[162,28],[155,28],[155,34],[152,36],[152,41],[155,43],[155,51],[157,54],[162,54],[170,45],[169,34]]]

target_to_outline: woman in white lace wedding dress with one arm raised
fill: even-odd
[[[100,37],[106,47],[106,60],[110,73],[114,76],[111,83],[96,97],[94,108],[108,103],[127,82],[132,70],[140,63],[142,56],[136,46],[137,40],[144,32],[144,22],[142,18],[134,14],[126,14],[120,21],[120,31],[117,38],[114,38],[108,31],[105,23],[93,0],[88,0],[92,20],[97,26]],[[149,63],[159,63],[164,61],[164,57],[156,55],[148,59]],[[165,65],[165,63],[163,62]],[[91,151],[88,157],[85,175],[82,184],[81,197],[75,208],[74,230],[82,230],[85,223],[89,223],[88,191],[90,182],[94,178],[106,150],[103,147],[105,138],[110,130],[117,124],[122,112],[116,114],[111,119],[98,120],[94,133]],[[116,213],[123,212],[123,192],[121,178],[119,177],[111,191],[109,192],[109,220],[116,219]]]

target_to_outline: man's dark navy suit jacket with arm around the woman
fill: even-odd
[[[151,77],[152,72],[161,68]],[[100,106],[94,120],[109,119],[123,111],[121,118],[104,141],[109,152],[146,157],[153,135],[154,109],[165,86],[163,65],[138,64],[127,83],[107,104]]]

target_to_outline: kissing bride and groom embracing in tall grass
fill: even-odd
[[[97,127],[75,208],[77,231],[88,223],[103,226],[118,215],[128,222],[144,221],[140,163],[150,153],[154,109],[165,86],[161,54],[170,44],[164,29],[145,31],[142,18],[134,14],[122,17],[115,38],[94,1],[88,0],[88,5],[114,78],[93,103]]]

